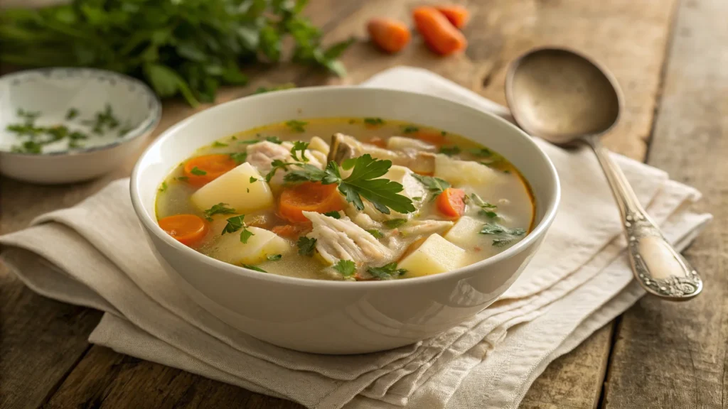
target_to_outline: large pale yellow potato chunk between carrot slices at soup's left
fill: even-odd
[[[255,183],[250,183],[255,178]],[[258,171],[248,162],[199,188],[190,197],[200,210],[226,203],[238,213],[249,213],[273,205],[273,194]]]

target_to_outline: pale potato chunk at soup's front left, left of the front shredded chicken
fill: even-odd
[[[290,243],[277,234],[258,227],[248,227],[253,236],[247,243],[240,242],[240,231],[223,234],[215,243],[210,255],[232,264],[258,264],[266,261],[266,256],[285,254],[291,250]]]

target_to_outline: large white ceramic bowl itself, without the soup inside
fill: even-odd
[[[157,226],[159,183],[197,148],[234,132],[289,119],[400,119],[464,135],[505,155],[533,187],[536,227],[503,253],[427,277],[381,282],[299,279],[223,263]],[[151,246],[181,290],[245,333],[304,352],[355,354],[411,344],[485,309],[513,284],[553,221],[560,188],[547,156],[513,124],[448,100],[412,92],[320,87],[234,100],[176,124],[137,163],[134,209]]]

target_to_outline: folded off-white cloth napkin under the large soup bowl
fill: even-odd
[[[502,106],[417,68],[393,68],[364,85],[430,93],[507,116]],[[529,267],[476,317],[392,351],[295,352],[199,308],[142,239],[128,180],[0,237],[0,259],[41,295],[106,311],[90,335],[94,344],[308,408],[515,408],[549,362],[644,294],[632,281],[620,218],[596,159],[537,142],[557,167],[563,199]],[[710,221],[689,210],[700,198],[695,189],[645,164],[614,159],[678,248]]]

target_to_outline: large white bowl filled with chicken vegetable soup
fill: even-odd
[[[513,284],[558,176],[513,124],[399,90],[255,95],[161,135],[132,204],[175,285],[229,325],[304,352],[437,335]]]

